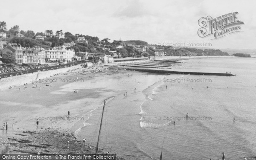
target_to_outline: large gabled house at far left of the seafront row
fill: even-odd
[[[23,49],[20,44],[8,44],[2,50],[3,63],[9,63],[9,60],[17,64],[23,63]]]

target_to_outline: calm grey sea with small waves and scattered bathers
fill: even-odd
[[[221,159],[222,152],[231,160],[255,157],[256,58],[188,59],[173,70],[236,76],[140,73],[101,80],[116,94],[105,105],[99,148],[159,159],[165,138],[163,159]],[[83,114],[77,136],[96,146],[102,107]]]

